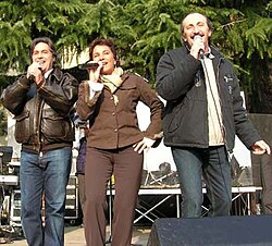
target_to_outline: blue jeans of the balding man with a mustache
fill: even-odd
[[[202,177],[211,204],[209,216],[228,216],[232,206],[232,177],[225,147],[172,147],[172,153],[182,189],[182,216],[201,217]]]

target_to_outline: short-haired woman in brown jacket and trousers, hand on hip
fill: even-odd
[[[81,84],[77,113],[89,121],[86,156],[84,226],[87,246],[106,241],[106,190],[114,174],[112,246],[129,246],[144,149],[160,138],[163,104],[146,81],[124,74],[110,39],[97,38],[89,47],[89,81]],[[150,108],[150,124],[138,127],[138,101]]]

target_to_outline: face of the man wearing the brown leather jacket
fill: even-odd
[[[39,63],[41,71],[45,73],[53,67],[55,59],[47,44],[38,42],[33,50],[32,60]]]

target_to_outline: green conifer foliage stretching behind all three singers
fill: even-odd
[[[0,70],[24,71],[38,36],[49,36],[64,61],[102,36],[114,40],[126,70],[154,83],[160,57],[181,46],[181,20],[200,12],[212,21],[212,44],[234,63],[243,89],[261,102],[264,85],[252,70],[268,71],[271,62],[271,10],[267,0],[3,0]]]

